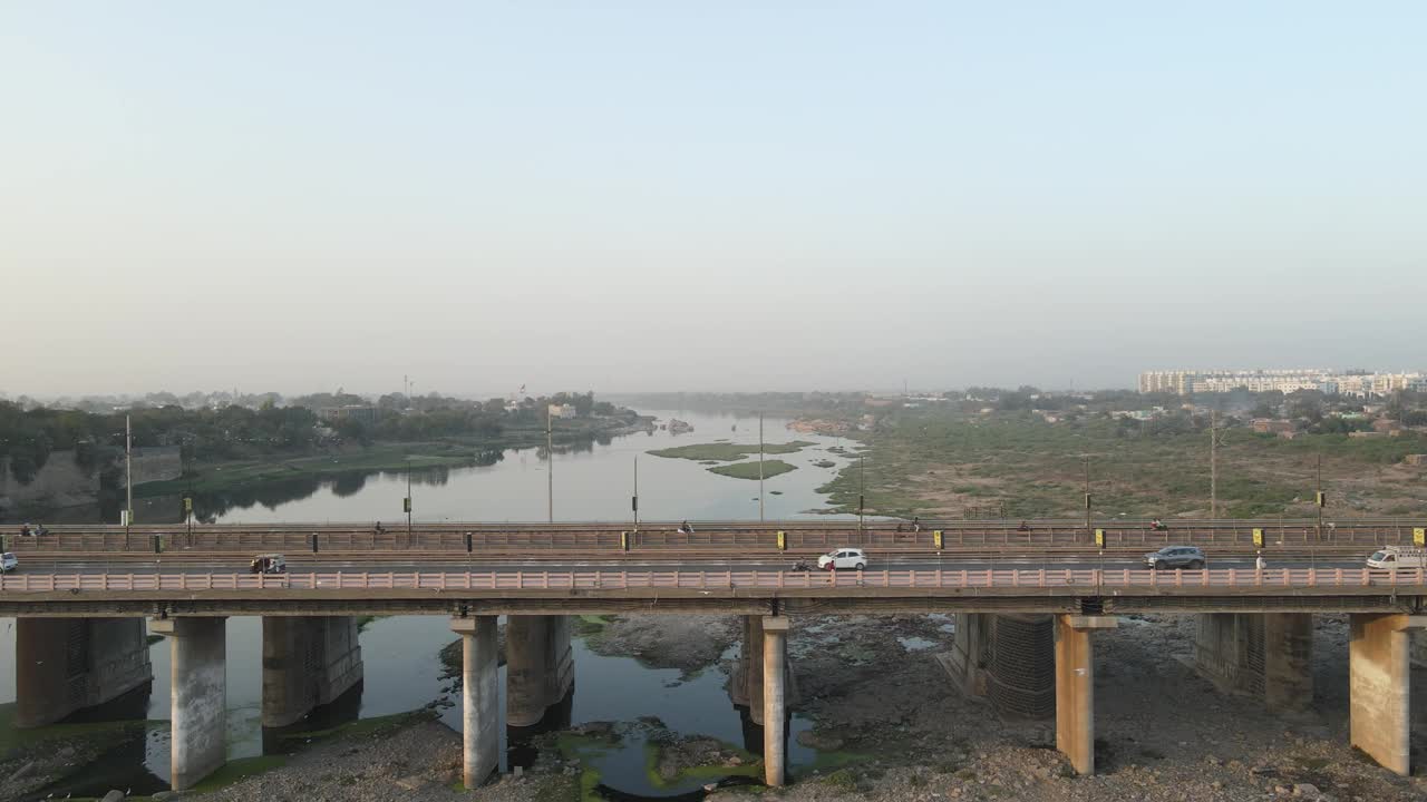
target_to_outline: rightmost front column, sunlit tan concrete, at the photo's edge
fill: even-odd
[[[1349,729],[1351,743],[1383,768],[1411,773],[1408,629],[1427,615],[1349,616]]]

